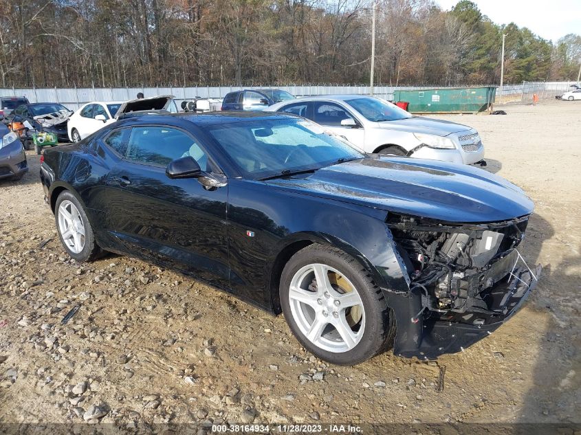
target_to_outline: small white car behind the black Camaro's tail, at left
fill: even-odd
[[[122,101],[94,101],[80,107],[69,118],[67,133],[71,142],[78,142],[98,129],[115,122],[115,115]]]

